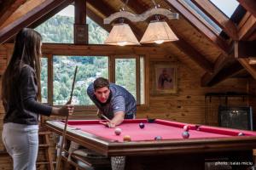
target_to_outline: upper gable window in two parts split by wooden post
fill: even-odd
[[[105,31],[96,22],[86,17],[88,24],[88,41],[90,44],[103,44],[108,37]],[[69,5],[55,14],[42,25],[35,28],[48,43],[73,43],[74,6]]]

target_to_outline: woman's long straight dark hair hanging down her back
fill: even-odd
[[[40,83],[40,55],[41,55],[41,35],[32,29],[23,28],[19,31],[15,39],[15,48],[9,65],[3,74],[2,100],[6,105],[15,89],[15,84],[20,77],[20,71],[24,65],[30,65],[36,73],[38,85],[38,99],[41,99]]]

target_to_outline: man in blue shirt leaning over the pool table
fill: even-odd
[[[87,94],[98,108],[99,116],[107,116],[110,122],[102,122],[108,127],[116,127],[124,119],[133,119],[136,115],[136,100],[121,86],[109,83],[99,77],[87,88]]]

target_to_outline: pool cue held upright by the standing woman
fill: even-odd
[[[76,81],[77,71],[78,71],[78,66],[76,66],[76,69],[75,69],[75,72],[74,72],[71,94],[70,94],[69,100],[67,101],[68,104],[71,104],[71,102],[72,102],[73,88],[74,88],[74,83]],[[57,160],[56,170],[59,170],[60,167],[61,167],[61,153],[62,153],[62,150],[63,150],[63,145],[64,145],[64,141],[65,141],[65,138],[66,138],[66,133],[67,133],[68,116],[69,116],[69,114],[67,114],[66,122],[65,122],[65,127],[64,127],[64,130],[63,130],[63,133],[62,133],[61,148],[60,148],[60,151],[59,151],[59,156],[58,156],[58,160]]]

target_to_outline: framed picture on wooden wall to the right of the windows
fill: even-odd
[[[177,94],[176,63],[155,63],[153,74],[154,94]]]

